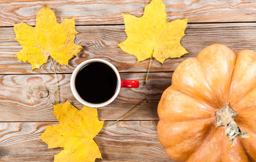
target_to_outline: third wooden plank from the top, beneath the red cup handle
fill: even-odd
[[[158,119],[157,107],[162,92],[170,86],[172,73],[151,73],[144,84],[145,73],[121,74],[124,80],[139,80],[139,88],[122,88],[108,106],[98,108],[99,119],[116,120],[148,100],[126,119]],[[81,109],[70,88],[71,74],[59,74],[59,99],[67,99]],[[0,121],[56,121],[52,104],[56,103],[54,74],[0,76]]]

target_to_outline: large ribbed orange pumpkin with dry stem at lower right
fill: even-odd
[[[256,161],[256,52],[211,45],[186,59],[158,115],[158,138],[170,159]]]

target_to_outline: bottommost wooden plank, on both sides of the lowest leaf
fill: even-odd
[[[119,121],[94,138],[103,161],[171,161],[158,141],[158,121]],[[0,123],[0,161],[53,161],[62,148],[49,148],[39,136],[57,123]],[[110,122],[105,122],[110,124]]]

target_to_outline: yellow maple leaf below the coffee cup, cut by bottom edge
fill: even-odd
[[[84,106],[77,109],[67,101],[54,105],[54,115],[60,124],[46,126],[39,137],[48,144],[48,148],[63,147],[54,162],[94,162],[100,158],[99,148],[93,138],[103,128],[104,121],[98,121],[97,109]]]

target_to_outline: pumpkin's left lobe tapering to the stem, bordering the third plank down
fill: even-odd
[[[171,109],[168,109],[169,105],[172,105]],[[172,86],[165,90],[158,104],[158,116],[169,121],[207,119],[214,117],[214,114],[214,109]]]

